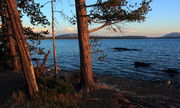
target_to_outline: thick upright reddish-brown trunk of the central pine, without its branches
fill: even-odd
[[[89,44],[88,21],[86,17],[87,12],[85,0],[75,0],[75,2],[80,49],[81,83],[83,84],[84,90],[89,91],[94,88],[94,79]]]

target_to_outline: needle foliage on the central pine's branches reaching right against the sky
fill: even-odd
[[[116,32],[122,30],[123,23],[143,22],[146,15],[151,11],[152,0],[97,0],[91,7],[88,17],[90,24],[102,24],[108,30]]]

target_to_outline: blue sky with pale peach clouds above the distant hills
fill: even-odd
[[[38,3],[44,4],[48,0],[35,0]],[[64,11],[68,16],[75,15],[75,4],[74,0],[56,0],[55,10]],[[93,4],[96,0],[86,0],[87,4]],[[129,0],[130,1],[130,0]],[[141,1],[141,0],[135,0]],[[50,3],[42,8],[43,13],[47,16],[51,22],[51,8]],[[160,37],[171,32],[180,32],[180,0],[153,0],[151,3],[152,11],[147,14],[147,19],[143,23],[126,23],[122,32],[112,32],[106,29],[102,29],[93,33],[93,35],[99,36],[127,36],[127,35],[138,35],[138,36],[149,36],[149,37]],[[55,31],[56,35],[65,33],[76,33],[76,25],[71,25],[66,21],[62,15],[55,13]],[[24,17],[24,26],[33,27],[29,19]],[[35,31],[49,30],[51,27],[40,27],[34,26]],[[91,28],[91,27],[90,27]]]

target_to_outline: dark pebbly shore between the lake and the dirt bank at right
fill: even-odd
[[[180,84],[97,75],[100,83],[147,108],[180,108]]]

